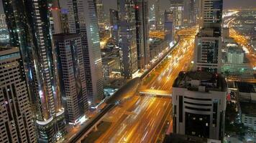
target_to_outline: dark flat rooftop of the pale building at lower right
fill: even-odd
[[[181,71],[173,87],[187,88],[198,91],[198,87],[205,87],[205,91],[227,91],[227,82],[221,74],[211,74],[206,71]]]

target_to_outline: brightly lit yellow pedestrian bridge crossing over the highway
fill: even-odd
[[[139,90],[140,94],[150,94],[154,96],[161,96],[161,97],[172,97],[172,93],[167,90],[158,90],[158,89],[142,89]]]

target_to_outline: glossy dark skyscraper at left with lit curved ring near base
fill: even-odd
[[[65,116],[53,62],[48,3],[4,0],[3,4],[11,45],[19,46],[24,61],[38,140],[56,142],[65,134]]]

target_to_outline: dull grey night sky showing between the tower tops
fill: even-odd
[[[2,1],[2,0],[0,0]],[[66,0],[60,0],[66,1]],[[104,10],[109,12],[109,9],[116,9],[116,0],[103,0],[104,1]],[[154,0],[149,0],[150,3]],[[170,4],[169,0],[160,0],[161,9],[168,9],[168,5]],[[224,0],[224,9],[230,8],[248,8],[248,7],[256,7],[256,0]],[[3,13],[2,2],[0,5],[0,13]]]

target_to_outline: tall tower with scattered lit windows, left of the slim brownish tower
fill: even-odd
[[[122,76],[131,79],[138,71],[136,20],[133,0],[117,1],[119,12],[119,48]]]

